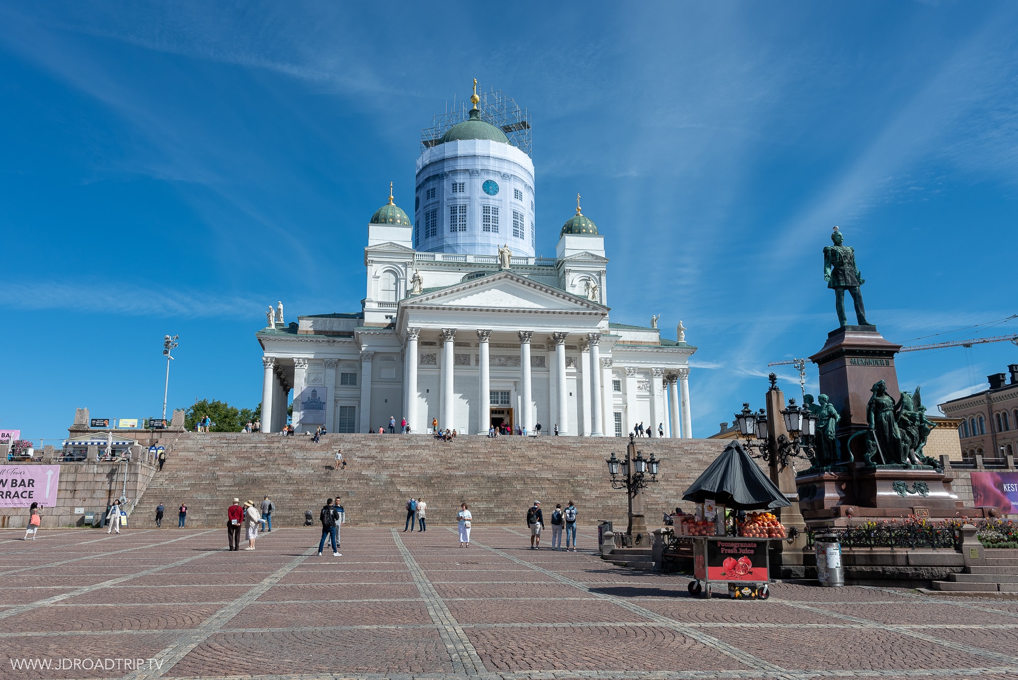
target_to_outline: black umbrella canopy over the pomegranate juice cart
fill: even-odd
[[[792,505],[738,442],[725,447],[682,497],[683,501],[693,503],[710,499],[736,510]]]

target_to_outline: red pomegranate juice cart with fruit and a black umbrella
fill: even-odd
[[[683,533],[693,536],[696,580],[689,582],[690,594],[710,598],[711,583],[725,582],[734,599],[767,600],[770,542],[780,541],[784,527],[769,512],[752,513],[752,519],[730,524],[725,508],[741,511],[790,506],[785,495],[738,442],[731,442],[682,499],[698,504],[694,520],[683,526]],[[728,532],[749,535],[726,535]]]

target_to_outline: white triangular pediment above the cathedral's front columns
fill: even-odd
[[[500,272],[431,293],[404,299],[409,307],[456,309],[513,309],[606,314],[608,308],[564,290],[513,274]]]

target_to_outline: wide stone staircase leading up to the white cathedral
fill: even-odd
[[[354,525],[401,525],[409,496],[428,502],[428,521],[454,523],[460,502],[478,524],[525,529],[526,508],[540,500],[545,512],[573,500],[579,521],[625,517],[625,492],[609,484],[605,459],[622,456],[627,440],[590,437],[458,437],[440,442],[428,435],[330,434],[309,437],[243,433],[184,433],[168,439],[166,465],[149,485],[132,526],[154,524],[156,506],[166,505],[165,526],[176,526],[176,509],[187,505],[187,525],[225,525],[234,497],[276,504],[278,525],[316,521],[326,498],[342,498]],[[648,523],[681,505],[683,492],[724,448],[716,440],[643,439],[638,449],[663,458],[658,484],[646,494]],[[171,448],[172,445],[172,448]],[[334,469],[342,451],[347,468]]]

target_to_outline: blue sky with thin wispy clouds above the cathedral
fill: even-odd
[[[358,309],[367,219],[472,77],[530,111],[538,251],[582,193],[613,321],[688,329],[695,435],[837,326],[836,224],[885,337],[1016,332],[950,332],[1018,313],[1016,48],[1013,2],[3,2],[0,429],[158,414],[166,333],[171,408],[258,404],[263,309]],[[898,373],[943,400],[1011,362]]]

